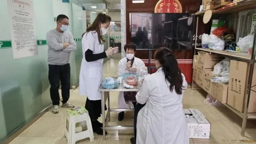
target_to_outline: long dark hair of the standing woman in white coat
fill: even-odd
[[[97,15],[97,17],[95,18],[95,20],[93,21],[93,23],[91,24],[91,26],[89,26],[87,29],[86,29],[86,32],[90,32],[90,31],[96,31],[97,34],[98,34],[98,39],[99,39],[99,44],[103,44],[103,42],[105,42],[105,40],[103,39],[103,37],[101,36],[101,28],[100,28],[100,24],[105,24],[106,22],[110,22],[111,21],[111,17],[107,14],[104,14],[104,13],[99,13]],[[96,33],[95,32],[95,33]],[[85,34],[83,33],[82,34],[82,38],[83,38],[83,35]],[[87,33],[88,34],[88,33]]]

